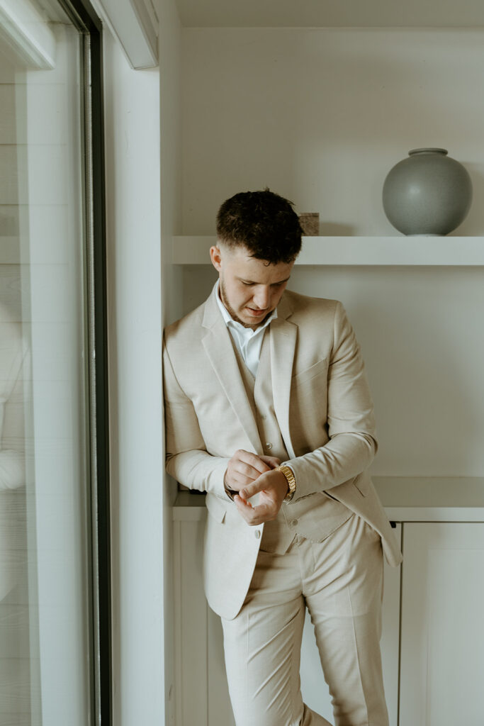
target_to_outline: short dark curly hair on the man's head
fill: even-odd
[[[266,188],[239,192],[217,214],[217,236],[227,246],[244,246],[270,264],[290,263],[299,254],[303,230],[292,202]]]

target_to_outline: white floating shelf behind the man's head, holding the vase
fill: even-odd
[[[210,264],[216,237],[173,237],[173,264]],[[298,265],[484,266],[484,237],[303,237]]]

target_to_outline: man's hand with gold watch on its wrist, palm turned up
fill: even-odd
[[[288,491],[287,478],[281,471],[266,471],[252,484],[240,489],[239,494],[234,497],[234,502],[247,524],[256,526],[276,518]],[[259,501],[258,505],[253,507],[247,499],[255,494],[259,494]]]

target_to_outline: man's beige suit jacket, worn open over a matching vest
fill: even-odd
[[[368,522],[388,562],[401,562],[393,530],[367,469],[377,449],[372,399],[353,329],[340,302],[286,290],[271,322],[274,409],[298,488],[290,517],[318,540],[311,516],[324,492]],[[165,330],[166,468],[207,492],[204,582],[210,607],[226,619],[242,607],[261,543],[226,496],[223,475],[237,449],[263,454],[230,333],[215,293]],[[317,506],[315,506],[317,510]]]

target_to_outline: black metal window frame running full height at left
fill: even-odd
[[[112,724],[112,624],[111,624],[111,551],[110,551],[110,470],[109,470],[109,409],[107,368],[107,284],[106,284],[106,218],[104,188],[104,113],[102,23],[89,0],[59,0],[73,24],[83,33],[89,60],[85,68],[85,81],[89,94],[89,129],[86,138],[90,144],[88,179],[91,227],[91,279],[88,280],[91,307],[91,335],[89,367],[91,424],[94,469],[91,481],[91,578],[92,628],[91,674],[94,693],[94,713],[97,726]],[[88,190],[86,190],[86,193]],[[89,277],[89,275],[88,275]]]

